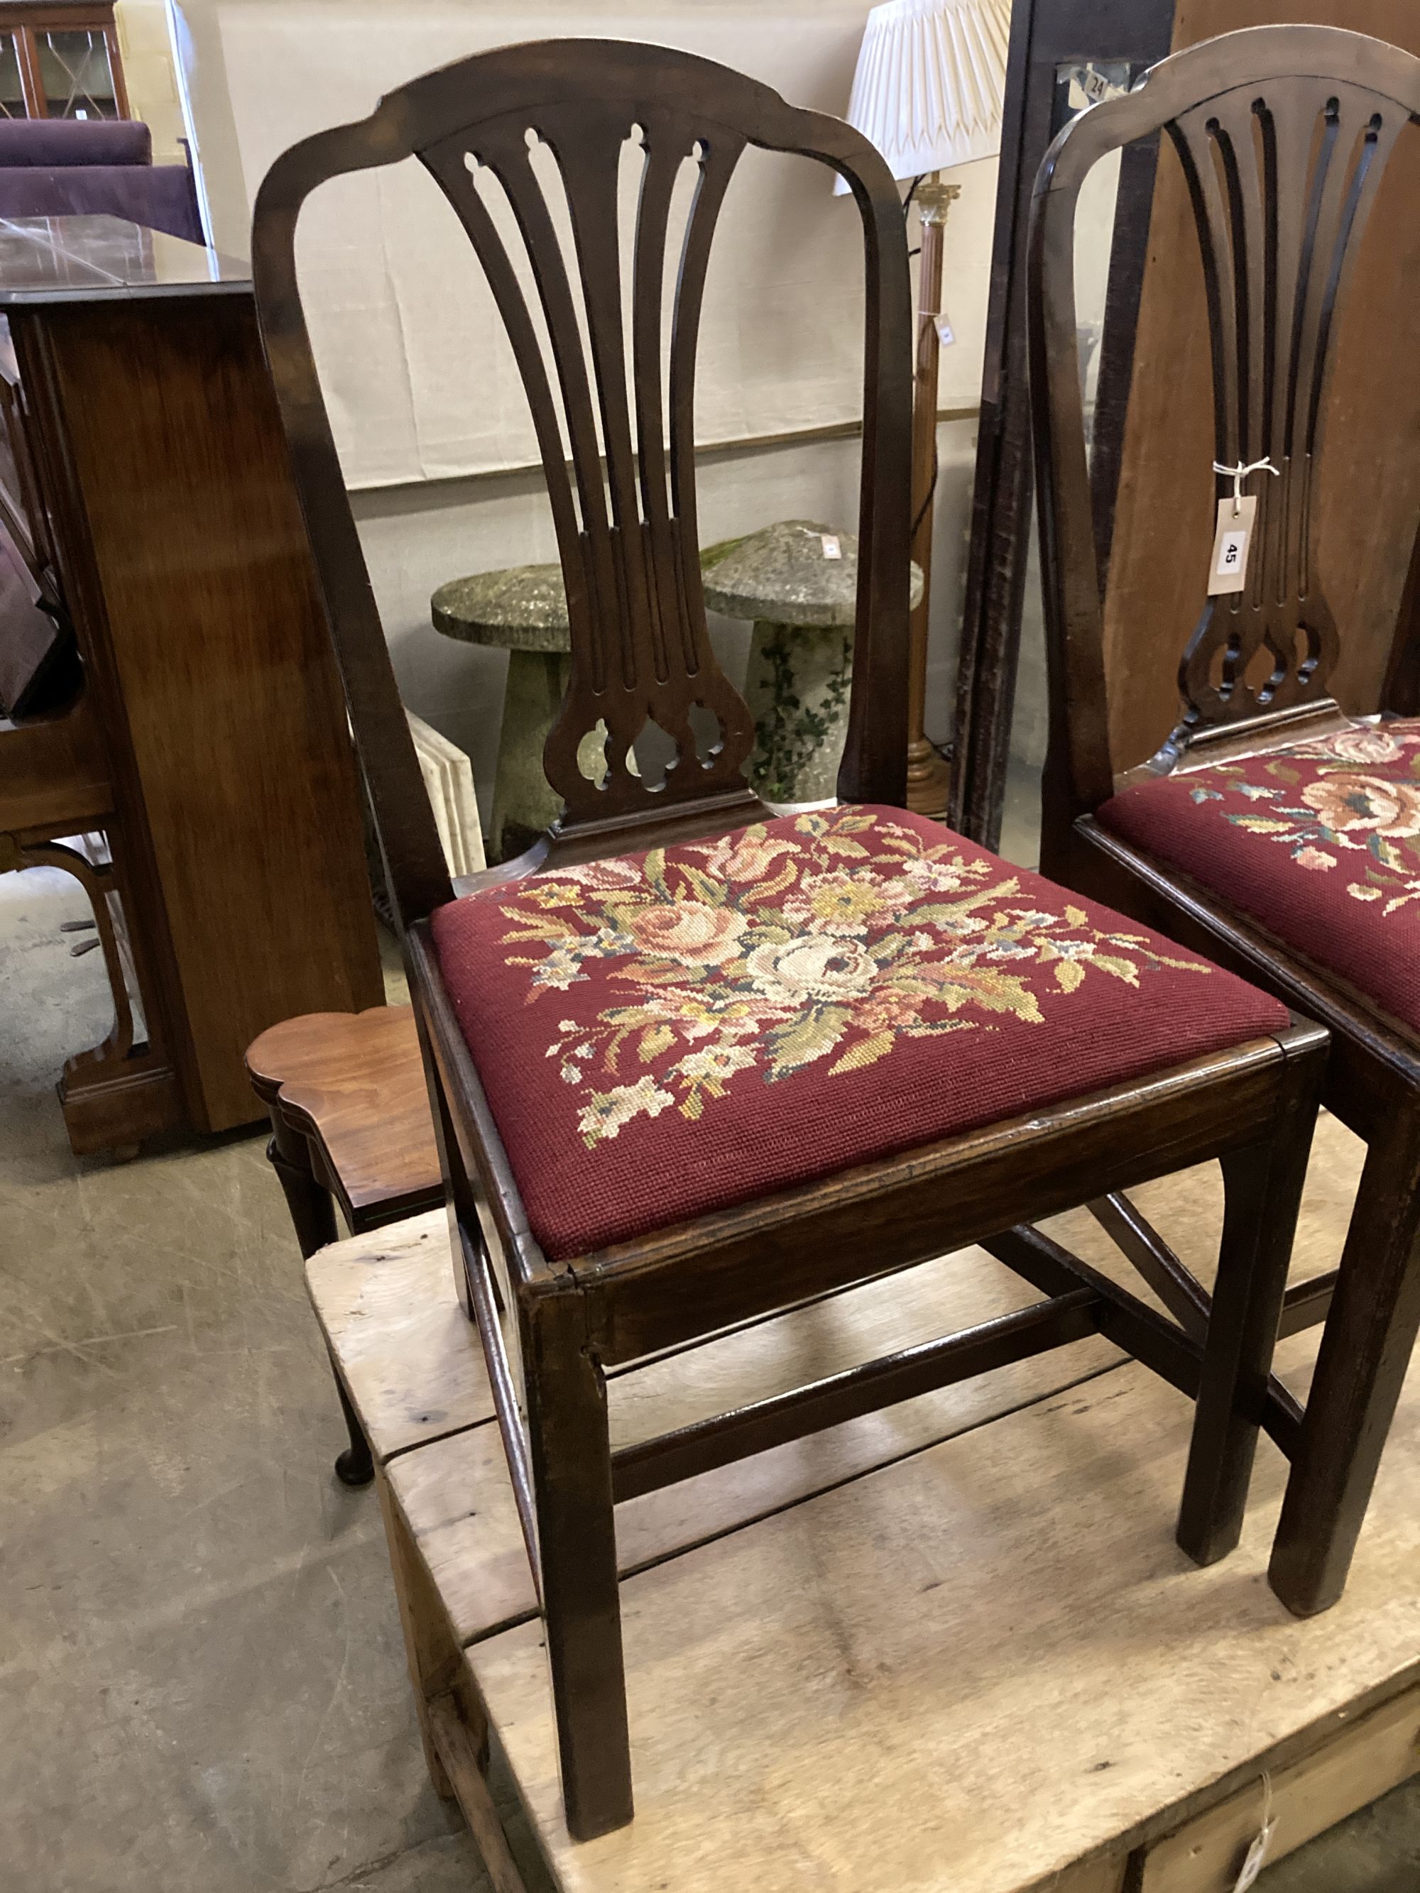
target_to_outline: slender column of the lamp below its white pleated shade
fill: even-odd
[[[947,212],[962,195],[933,172],[916,187],[922,223],[918,265],[916,371],[913,377],[913,562],[922,568],[922,602],[909,625],[907,670],[907,806],[920,816],[945,816],[950,770],[928,742],[928,613],[932,610],[932,526],[937,485],[937,369],[941,363],[941,254]]]

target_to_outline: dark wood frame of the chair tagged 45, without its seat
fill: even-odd
[[[1051,680],[1043,869],[1323,1022],[1331,1032],[1323,1102],[1369,1145],[1340,1268],[1293,1289],[1284,1318],[1286,1329],[1325,1318],[1306,1414],[1289,1442],[1270,1566],[1272,1588],[1299,1615],[1325,1609],[1344,1588],[1420,1327],[1420,1045],[1361,992],[1109,833],[1096,810],[1147,776],[1352,727],[1327,691],[1339,646],[1316,575],[1312,494],[1335,331],[1365,216],[1393,140],[1418,115],[1420,59],[1378,40],[1329,27],[1257,27],[1208,40],[1060,134],[1036,184],[1030,235]],[[1231,468],[1269,454],[1280,477],[1259,481],[1248,591],[1210,598],[1183,653],[1178,727],[1149,763],[1115,778],[1075,354],[1074,223],[1089,170],[1159,131],[1183,161],[1202,244],[1217,462]],[[1261,167],[1257,148],[1265,148]],[[1219,475],[1217,498],[1231,492],[1231,477]],[[1198,547],[1200,564],[1206,553]],[[1382,712],[1420,708],[1405,655],[1392,663]],[[1104,1213],[1132,1215],[1127,1204]],[[1206,1310],[1197,1283],[1136,1215],[1132,1240],[1172,1278],[1176,1300]]]

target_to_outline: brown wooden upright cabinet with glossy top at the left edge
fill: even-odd
[[[76,1151],[259,1115],[246,1045],[382,1000],[345,706],[240,265],[0,220],[0,871],[87,888]],[[19,693],[19,695],[17,695]]]

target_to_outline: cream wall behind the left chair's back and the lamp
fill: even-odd
[[[863,0],[170,0],[170,9],[210,225],[229,254],[246,254],[250,201],[288,144],[364,115],[382,91],[435,64],[555,34],[642,38],[723,59],[795,104],[841,112],[867,11]],[[943,407],[973,407],[979,396],[994,170],[960,174],[945,290],[958,343],[943,356]],[[439,638],[428,594],[464,572],[553,557],[540,481],[500,471],[536,458],[521,388],[468,246],[418,167],[328,189],[345,201],[320,214],[312,201],[301,267],[371,577],[411,708],[470,748],[487,791],[504,659]],[[858,415],[856,221],[833,199],[827,170],[746,155],[706,284],[702,441]],[[950,723],[971,452],[969,426],[943,426],[928,693],[937,738]],[[852,530],[856,468],[856,439],[706,454],[702,534],[710,541],[790,517]],[[725,625],[719,638],[742,663],[744,632]]]

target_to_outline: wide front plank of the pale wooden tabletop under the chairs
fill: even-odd
[[[1286,1344],[1291,1380],[1310,1348]],[[560,1885],[1021,1893],[1409,1681],[1420,1380],[1348,1596],[1308,1622],[1265,1583],[1270,1448],[1238,1552],[1198,1571],[1176,1550],[1187,1429],[1185,1401],[1123,1367],[629,1579],[636,1819],[585,1846],[538,1624],[473,1645]]]

